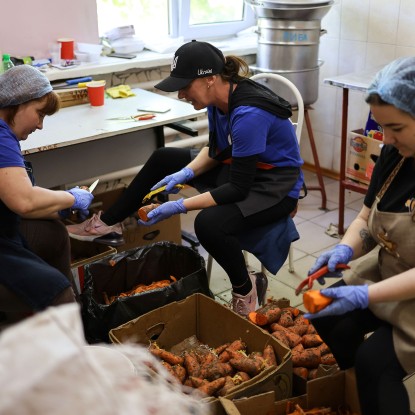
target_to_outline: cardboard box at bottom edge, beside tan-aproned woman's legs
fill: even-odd
[[[309,381],[307,393],[295,398],[278,400],[271,391],[233,401],[227,397],[220,398],[220,402],[222,413],[227,415],[286,415],[289,402],[298,404],[303,410],[316,407],[331,407],[332,410],[337,410],[346,405],[353,414],[360,414],[353,370],[339,371]]]

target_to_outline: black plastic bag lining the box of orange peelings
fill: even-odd
[[[105,302],[105,294],[117,296],[138,284],[148,285],[170,276],[177,281],[165,288],[121,297],[110,305]],[[171,242],[157,242],[88,264],[81,294],[86,340],[90,344],[109,343],[111,329],[194,293],[214,298],[205,260],[192,249]]]

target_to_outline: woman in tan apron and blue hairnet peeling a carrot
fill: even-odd
[[[340,368],[354,366],[362,414],[408,415],[402,380],[415,371],[415,57],[382,69],[366,102],[384,146],[362,210],[310,273],[359,259],[321,291],[333,302],[307,317]]]

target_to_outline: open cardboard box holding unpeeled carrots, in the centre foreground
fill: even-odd
[[[153,340],[167,350],[191,336],[196,336],[209,347],[242,339],[247,344],[248,352],[262,351],[267,344],[273,346],[278,367],[265,369],[251,380],[236,386],[227,395],[228,398],[267,391],[273,391],[276,399],[292,396],[290,350],[265,330],[203,294],[193,294],[182,301],[157,308],[109,332],[113,343],[148,345]]]

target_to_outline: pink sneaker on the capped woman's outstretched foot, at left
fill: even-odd
[[[92,218],[75,225],[67,225],[69,236],[79,241],[94,241],[104,245],[119,246],[125,243],[122,235],[122,226],[117,223],[106,225],[101,218],[101,211]]]

